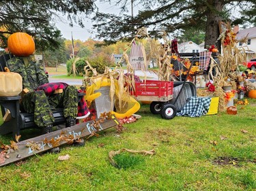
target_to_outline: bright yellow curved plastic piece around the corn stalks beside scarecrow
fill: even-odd
[[[135,114],[141,105],[139,102],[137,102],[134,98],[130,97],[130,94],[128,92],[123,92],[122,96],[119,96],[119,86],[118,81],[113,80],[113,87],[111,87],[111,80],[109,78],[97,78],[94,79],[94,81],[91,83],[91,86],[87,86],[86,88],[86,95],[85,95],[85,101],[87,101],[88,105],[91,105],[91,101],[94,101],[94,99],[100,97],[101,93],[96,92],[95,90],[98,90],[102,86],[110,86],[110,94],[112,91],[114,91],[115,94],[115,108],[117,111],[111,111],[112,114],[115,115],[116,118],[126,118],[132,116],[132,114]],[[121,99],[121,100],[119,100]],[[119,105],[119,103],[122,103]]]

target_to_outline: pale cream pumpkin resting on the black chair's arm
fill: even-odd
[[[23,90],[23,78],[15,72],[1,71],[0,84],[0,97],[17,96]]]

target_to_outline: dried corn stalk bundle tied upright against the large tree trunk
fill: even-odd
[[[236,80],[238,79],[239,65],[246,62],[244,48],[236,46],[236,34],[231,30],[230,24],[227,24],[227,31],[220,36],[222,42],[222,54],[218,56],[219,63],[211,57],[209,70],[209,79],[212,79],[215,85],[214,96],[219,97],[219,111],[225,111],[225,91],[223,86],[232,86],[236,89]],[[214,73],[213,73],[214,71]]]

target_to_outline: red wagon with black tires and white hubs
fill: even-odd
[[[176,108],[169,103],[173,99],[173,82],[146,80],[135,83],[135,90],[130,94],[137,101],[152,101],[150,111],[171,120],[176,116]]]

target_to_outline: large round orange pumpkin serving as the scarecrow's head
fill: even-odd
[[[8,48],[15,56],[29,56],[35,52],[35,42],[27,33],[13,33],[8,38]]]

